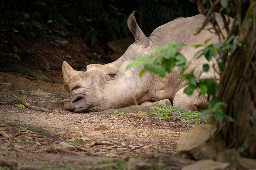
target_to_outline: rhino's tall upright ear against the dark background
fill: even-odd
[[[132,34],[134,35],[136,42],[143,45],[144,47],[147,47],[149,44],[149,40],[147,39],[147,36],[145,36],[145,34],[139,28],[139,25],[137,24],[135,16],[134,16],[134,12],[135,11],[133,11],[129,15],[129,17],[127,19],[127,25],[129,27],[130,31],[132,32]]]

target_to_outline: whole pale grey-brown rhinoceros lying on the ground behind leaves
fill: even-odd
[[[223,28],[221,15],[216,13],[215,18],[220,28]],[[190,47],[191,45],[203,44],[210,37],[212,37],[210,43],[219,41],[215,34],[211,34],[207,30],[202,30],[196,36],[193,35],[195,29],[202,25],[204,19],[204,15],[199,14],[168,22],[155,29],[151,36],[146,37],[136,23],[134,12],[132,12],[127,23],[136,42],[130,45],[117,61],[105,65],[87,65],[86,72],[75,71],[66,61],[63,62],[64,89],[69,93],[64,108],[78,113],[98,112],[135,105],[136,102],[142,105],[151,105],[148,101],[157,101],[154,104],[159,104],[163,99],[169,99],[165,101],[171,101],[173,106],[184,109],[207,108],[208,103],[205,98],[198,97],[197,94],[190,98],[183,94],[184,87],[188,85],[188,82],[181,81],[177,69],[173,69],[173,72],[166,78],[159,78],[153,73],[146,72],[142,79],[138,76],[142,68],[126,70],[128,63],[135,60],[138,54],[151,54],[154,47],[165,45],[168,41],[173,40],[188,45],[180,52],[188,61],[191,61],[199,50]],[[233,22],[233,19],[230,18],[230,21]],[[207,27],[210,26],[207,25]],[[186,72],[195,69],[195,74],[199,74],[205,63],[210,64],[211,68],[200,78],[218,77],[212,67],[216,63],[214,61],[207,62],[203,57],[193,62]],[[169,102],[169,104],[171,103]]]

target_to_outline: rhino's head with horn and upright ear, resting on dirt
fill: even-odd
[[[139,89],[138,71],[125,69],[138,54],[147,53],[149,40],[137,25],[134,12],[127,22],[136,42],[117,61],[106,65],[87,65],[86,72],[76,71],[66,61],[63,62],[64,89],[69,93],[64,103],[65,109],[98,112],[134,105],[134,98],[138,102],[142,100],[143,90]]]

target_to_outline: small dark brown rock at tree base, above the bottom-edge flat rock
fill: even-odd
[[[228,162],[231,166],[238,166],[241,156],[235,148],[226,149],[223,152],[219,152],[217,160],[220,162]]]

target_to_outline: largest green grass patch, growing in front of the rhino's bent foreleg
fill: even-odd
[[[201,119],[206,118],[208,115],[205,116],[201,116],[199,112],[193,112],[193,111],[188,111],[188,112],[183,112],[181,110],[178,109],[172,109],[171,106],[168,105],[163,105],[163,106],[153,106],[151,107],[154,110],[160,110],[160,111],[170,111],[170,112],[176,112],[178,113],[179,116],[175,116],[175,117],[179,117],[182,119],[182,121],[184,123],[196,123],[200,124],[201,123]],[[151,113],[151,115],[157,116],[158,119],[169,119],[170,116],[172,116],[170,113]],[[206,120],[203,121],[204,123],[206,123]]]

